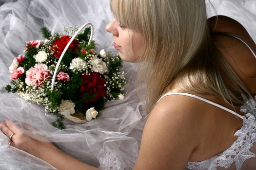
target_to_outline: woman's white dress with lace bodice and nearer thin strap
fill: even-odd
[[[256,103],[248,101],[241,107],[244,116],[223,107],[215,102],[188,93],[164,94],[160,99],[169,95],[184,95],[215,105],[243,119],[243,126],[234,134],[234,143],[225,151],[200,162],[188,162],[186,170],[255,170],[256,168]],[[253,106],[253,107],[252,107]]]

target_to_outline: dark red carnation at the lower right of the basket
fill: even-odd
[[[103,98],[106,95],[106,91],[104,90],[106,82],[102,77],[99,77],[98,73],[88,72],[88,74],[82,75],[81,78],[83,79],[83,83],[80,85],[80,91],[90,96],[96,95],[92,101],[84,101],[85,103],[96,102],[99,98]]]

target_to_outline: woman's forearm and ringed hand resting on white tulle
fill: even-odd
[[[99,170],[62,152],[52,143],[38,141],[24,135],[9,119],[5,121],[5,124],[0,123],[0,129],[6,136],[15,134],[12,137],[12,146],[44,160],[58,170]]]

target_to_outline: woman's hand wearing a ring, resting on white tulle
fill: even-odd
[[[51,143],[38,141],[25,135],[21,131],[21,129],[13,122],[11,122],[9,119],[5,119],[5,124],[0,123],[0,129],[4,133],[4,135],[6,135],[9,138],[10,136],[12,136],[12,134],[14,134],[10,140],[11,146],[14,146],[20,150],[23,150],[35,156],[38,156],[36,155],[37,153],[39,153],[38,150],[41,151],[44,147],[53,146],[53,144]]]

